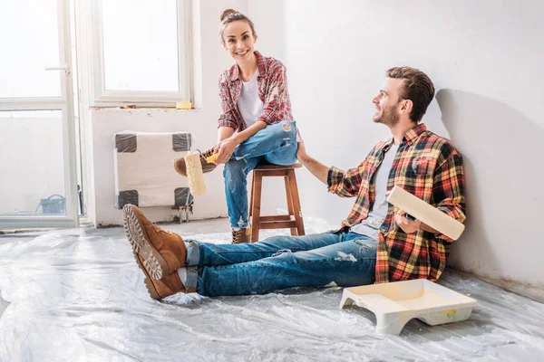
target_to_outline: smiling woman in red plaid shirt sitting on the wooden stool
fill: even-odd
[[[203,156],[217,154],[213,164],[202,157],[204,172],[225,164],[225,194],[232,227],[232,243],[248,243],[247,176],[261,162],[275,165],[296,163],[297,130],[291,114],[285,66],[265,57],[254,47],[255,25],[236,10],[220,16],[223,47],[236,62],[219,77],[222,114],[218,145]],[[174,167],[186,176],[183,158]]]

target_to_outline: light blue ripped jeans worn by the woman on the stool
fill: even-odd
[[[268,125],[238,145],[223,170],[228,218],[233,228],[249,226],[249,172],[263,161],[274,165],[292,165],[296,163],[297,148],[296,122],[287,120]]]

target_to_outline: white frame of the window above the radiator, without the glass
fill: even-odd
[[[87,18],[94,26],[92,29],[92,107],[115,107],[121,105],[137,105],[142,107],[171,107],[176,102],[192,102],[194,90],[192,83],[192,46],[191,46],[191,8],[189,0],[176,0],[178,23],[178,74],[179,91],[157,90],[106,90],[104,72],[104,49],[102,33],[102,1],[88,0],[91,6],[91,18]]]

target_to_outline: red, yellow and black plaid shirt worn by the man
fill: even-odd
[[[328,189],[342,197],[356,197],[355,205],[342,227],[364,220],[374,204],[374,173],[393,144],[393,138],[379,142],[357,168],[342,171],[331,167]],[[463,223],[465,198],[462,158],[445,139],[424,124],[409,130],[399,145],[389,173],[387,190],[401,186],[406,191]],[[425,278],[436,281],[446,266],[452,239],[420,230],[404,233],[394,221],[398,208],[389,205],[378,233],[376,282]]]

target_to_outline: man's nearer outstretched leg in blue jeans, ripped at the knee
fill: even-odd
[[[376,241],[360,236],[306,252],[283,252],[255,262],[199,267],[190,278],[205,296],[262,294],[292,287],[342,287],[374,282]],[[189,278],[188,278],[189,281]]]

